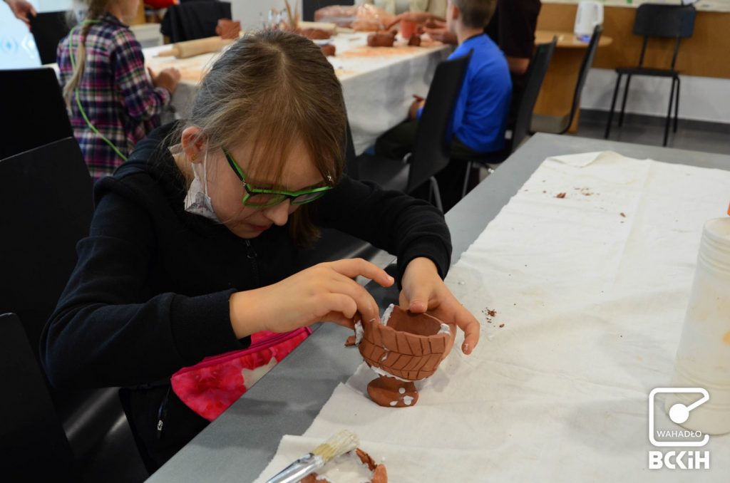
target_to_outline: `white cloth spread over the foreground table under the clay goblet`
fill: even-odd
[[[728,481],[730,435],[699,448],[709,470],[648,468],[667,449],[650,445],[648,395],[669,384],[702,224],[729,193],[728,171],[546,160],[447,277],[482,325],[475,352],[451,352],[407,409],[370,401],[361,366],[261,476],[349,428],[399,483]]]

